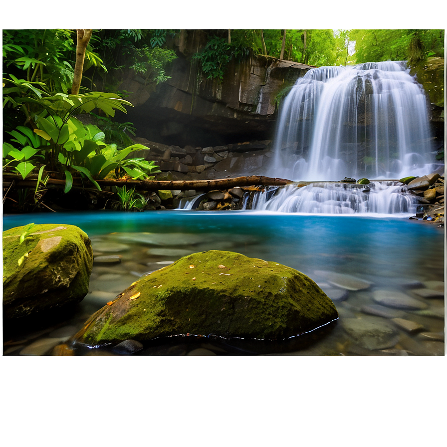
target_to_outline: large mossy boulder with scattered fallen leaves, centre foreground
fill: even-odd
[[[303,273],[211,250],[141,277],[92,315],[71,343],[100,347],[175,336],[278,341],[337,318],[333,302]]]

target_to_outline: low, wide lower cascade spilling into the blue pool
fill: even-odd
[[[399,182],[298,185],[291,183],[279,188],[270,199],[267,192],[256,193],[260,197],[253,199],[251,209],[278,213],[399,215],[414,213],[417,206],[416,198]]]

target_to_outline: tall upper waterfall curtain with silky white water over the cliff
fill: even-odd
[[[283,101],[267,175],[299,181],[432,172],[428,101],[405,61],[319,67]]]

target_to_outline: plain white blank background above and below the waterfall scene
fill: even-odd
[[[3,28],[446,28],[430,0],[3,0],[0,14]],[[1,357],[0,391],[1,446],[446,445],[446,357]]]

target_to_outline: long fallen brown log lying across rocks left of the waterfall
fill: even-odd
[[[35,188],[36,179],[21,179],[18,176],[4,175],[3,186],[7,187],[9,182],[14,181],[16,188]],[[158,191],[158,190],[214,190],[214,189],[228,189],[236,186],[283,186],[292,183],[291,180],[271,178],[265,176],[247,176],[247,177],[233,177],[227,179],[215,180],[97,180],[99,186],[127,186],[128,188],[135,188],[137,190]],[[65,187],[65,180],[48,179],[46,185],[53,185],[55,187]],[[88,185],[88,186],[87,186]],[[84,183],[80,181],[73,182],[73,188],[91,188],[91,184],[87,181]]]

